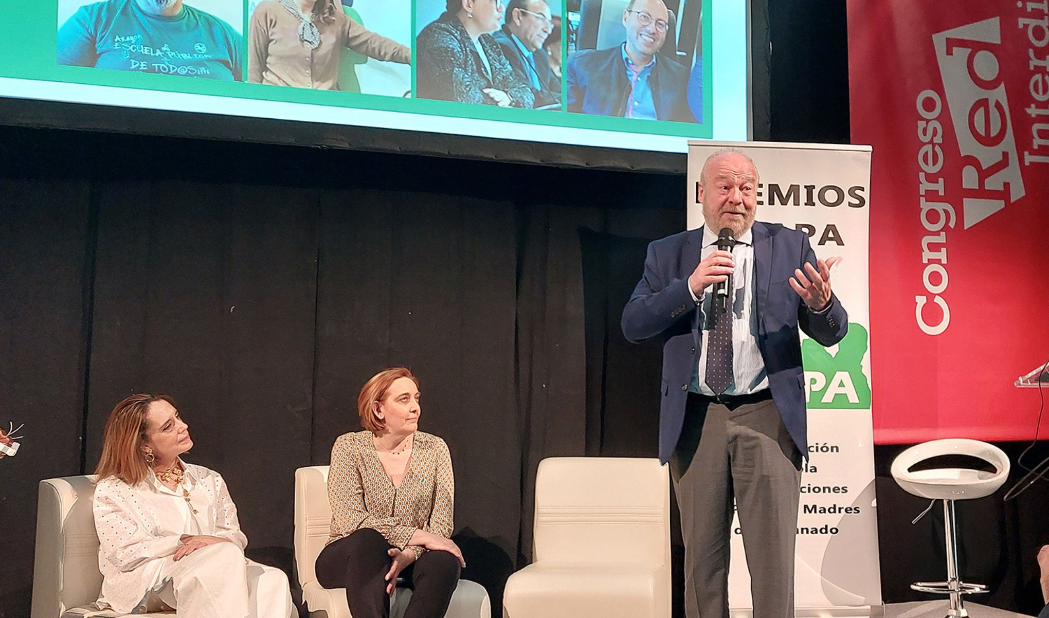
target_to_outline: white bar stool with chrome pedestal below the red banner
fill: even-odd
[[[935,468],[911,471],[916,464],[942,455],[969,455],[994,467],[993,472],[970,468]],[[985,593],[981,583],[965,583],[958,574],[958,537],[955,526],[955,500],[988,496],[1002,487],[1009,476],[1009,457],[992,444],[979,440],[934,440],[915,445],[893,461],[893,478],[907,493],[934,500],[943,500],[943,535],[947,548],[947,581],[917,581],[913,590],[950,595],[947,616],[965,618],[968,613],[962,595]],[[929,506],[932,508],[932,505]],[[927,510],[926,510],[927,512]],[[922,513],[924,515],[925,513]],[[919,518],[921,515],[919,515]],[[917,521],[917,519],[916,519]]]

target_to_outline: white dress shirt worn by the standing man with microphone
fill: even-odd
[[[735,262],[732,277],[732,293],[729,297],[732,313],[732,384],[724,395],[751,395],[769,387],[769,377],[765,372],[765,360],[757,347],[757,297],[754,291],[754,232],[747,232],[736,239],[732,248],[732,261]],[[706,259],[718,250],[718,234],[709,227],[703,227],[703,250],[700,259]],[[710,320],[707,316],[713,310],[711,287],[701,291],[697,296],[691,286],[688,293],[699,306],[700,320],[700,358],[689,390],[702,395],[713,396],[714,391],[706,384],[707,372],[707,338],[710,336]]]

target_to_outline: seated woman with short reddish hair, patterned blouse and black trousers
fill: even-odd
[[[364,431],[331,448],[331,531],[317,580],[346,589],[354,618],[389,616],[398,576],[414,594],[405,618],[442,618],[466,567],[449,538],[455,483],[444,440],[419,431],[419,380],[404,367],[371,377],[357,398]]]

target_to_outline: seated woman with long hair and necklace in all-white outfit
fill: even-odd
[[[248,537],[222,476],[178,455],[189,427],[165,395],[132,395],[106,422],[94,527],[99,604],[192,618],[296,616],[287,577],[244,558]]]

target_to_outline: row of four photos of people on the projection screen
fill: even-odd
[[[56,52],[60,65],[703,123],[705,2],[57,0]]]

